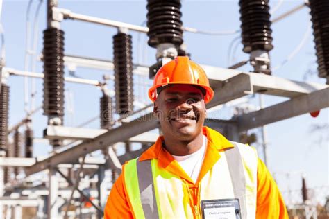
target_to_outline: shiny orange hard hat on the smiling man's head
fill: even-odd
[[[157,98],[156,90],[173,84],[194,85],[205,89],[205,103],[209,103],[214,91],[209,85],[205,71],[199,64],[189,60],[187,56],[177,56],[174,60],[164,64],[156,73],[153,86],[149,89],[149,98],[154,102]]]

